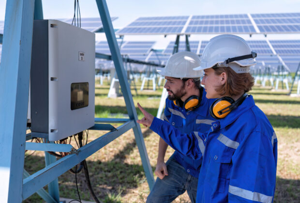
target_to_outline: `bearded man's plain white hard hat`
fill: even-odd
[[[175,78],[199,78],[202,71],[193,70],[201,64],[200,57],[193,52],[183,51],[173,54],[166,61],[165,68],[156,68],[157,73]]]

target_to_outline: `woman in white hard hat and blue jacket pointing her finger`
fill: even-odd
[[[193,159],[203,157],[197,187],[197,202],[273,201],[276,181],[277,138],[265,114],[247,95],[254,85],[250,66],[256,54],[235,35],[210,40],[203,51],[201,84],[218,120],[206,133],[180,133],[154,118],[139,104],[144,118],[137,122],[159,134],[165,142]]]

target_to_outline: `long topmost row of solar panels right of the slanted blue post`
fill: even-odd
[[[140,17],[116,32],[126,34],[299,33],[300,13]]]

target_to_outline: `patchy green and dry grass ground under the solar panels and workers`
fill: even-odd
[[[96,117],[128,117],[126,105],[122,97],[107,98],[109,85],[98,85],[95,90]],[[141,83],[137,84],[140,87]],[[145,85],[145,87],[147,87]],[[281,86],[279,86],[281,87]],[[150,86],[150,88],[152,88]],[[152,115],[156,115],[160,102],[162,88],[137,91],[132,89],[133,100],[139,102]],[[274,202],[296,203],[300,199],[300,98],[289,97],[286,91],[272,91],[270,87],[255,86],[250,92],[255,102],[268,116],[278,137],[277,184]],[[137,108],[136,108],[137,109]],[[141,112],[137,109],[139,118]],[[154,171],[158,153],[158,135],[141,126],[150,164]],[[90,131],[88,141],[100,137],[105,132]],[[74,140],[71,142],[76,146]],[[26,152],[26,155],[32,151]],[[169,147],[165,160],[173,153]],[[44,167],[44,152],[35,152],[25,159],[25,169],[34,173]],[[118,139],[106,145],[87,159],[92,187],[103,203],[143,203],[150,192],[145,173],[141,164],[139,152],[132,130],[124,133]],[[156,178],[156,177],[155,177]],[[77,174],[78,188],[82,200],[90,200],[84,174]],[[60,196],[78,199],[75,175],[69,172],[59,177]],[[45,187],[45,189],[47,189]],[[43,200],[34,194],[24,202],[39,203]],[[174,203],[187,203],[186,193],[178,197]]]

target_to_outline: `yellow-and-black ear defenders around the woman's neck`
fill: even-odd
[[[248,96],[244,93],[237,101],[231,97],[222,97],[210,105],[210,116],[215,119],[225,118],[233,109],[237,108]]]

